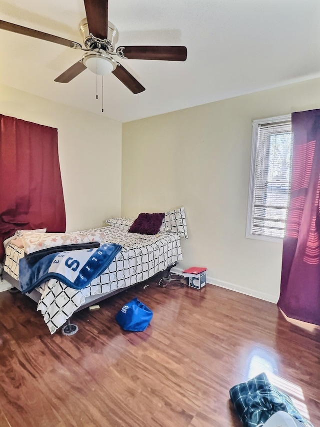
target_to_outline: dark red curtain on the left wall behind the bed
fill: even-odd
[[[65,231],[57,129],[0,114],[0,261],[16,230]]]

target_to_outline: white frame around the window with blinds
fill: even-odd
[[[252,121],[251,169],[250,169],[249,196],[248,196],[248,208],[247,208],[246,230],[245,230],[245,237],[248,239],[265,240],[269,242],[281,242],[281,243],[283,241],[283,238],[281,237],[252,234],[251,226],[252,226],[254,173],[255,173],[255,163],[256,163],[257,142],[258,142],[258,128],[259,128],[259,125],[286,122],[286,121],[291,121],[290,114],[287,114],[285,116],[269,117],[267,119]]]

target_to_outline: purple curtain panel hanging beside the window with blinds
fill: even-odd
[[[320,325],[320,110],[292,113],[292,179],[278,306]]]

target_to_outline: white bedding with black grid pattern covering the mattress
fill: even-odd
[[[112,226],[93,231],[103,231],[105,242],[118,243],[122,250],[109,267],[84,289],[72,289],[55,279],[50,279],[36,288],[41,293],[37,310],[41,311],[51,333],[62,326],[84,303],[85,297],[141,282],[182,259],[180,237],[176,233],[159,233],[152,236],[128,233]],[[9,243],[5,254],[3,269],[18,280],[18,261],[24,256],[23,249]]]

